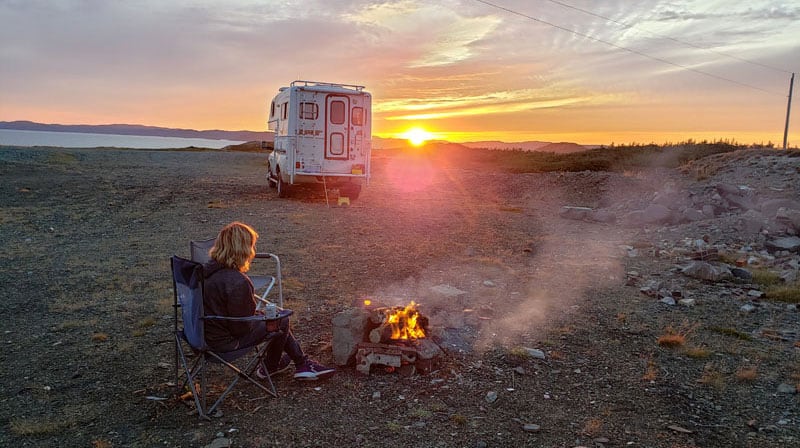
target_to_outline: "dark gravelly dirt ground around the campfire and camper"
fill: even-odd
[[[628,281],[675,271],[647,255],[657,232],[559,218],[563,205],[645,198],[663,177],[508,175],[376,151],[372,182],[339,207],[319,191],[279,199],[264,160],[0,148],[0,446],[800,444],[798,394],[778,390],[800,382],[796,310],[742,315],[725,292],[741,285],[688,280],[698,305],[667,307]],[[364,298],[415,300],[436,305],[441,365],[281,376],[278,398],[243,385],[199,420],[175,398],[169,257],[234,220],[281,257],[311,356],[332,363],[331,319]],[[445,300],[441,285],[463,294]],[[685,343],[658,344],[670,329]]]

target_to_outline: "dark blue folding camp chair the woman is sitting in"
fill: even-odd
[[[259,360],[266,353],[272,342],[272,335],[268,333],[265,340],[258,342],[256,345],[242,347],[231,352],[216,352],[206,344],[204,322],[211,319],[221,319],[262,321],[266,325],[268,320],[288,318],[292,311],[281,310],[278,317],[274,319],[267,319],[260,315],[249,317],[207,316],[203,312],[203,265],[178,256],[172,257],[171,265],[175,292],[175,384],[181,391],[185,386],[189,386],[200,417],[208,419],[209,415],[213,414],[222,404],[222,401],[239,381],[239,378],[244,378],[253,383],[263,390],[265,395],[269,394],[277,397],[275,385],[272,383],[272,378],[270,378],[268,372],[265,378],[267,386],[258,381],[258,379],[253,378],[253,373],[258,367]],[[180,309],[180,316],[178,309]],[[188,345],[191,351],[197,355],[193,363],[190,363],[187,359],[188,353],[184,350],[184,344]],[[248,354],[254,354],[254,356],[248,360],[246,357]],[[239,368],[233,364],[234,362],[244,365]],[[222,364],[232,370],[236,376],[209,408],[206,393],[208,390],[206,387],[206,371],[210,363]],[[183,367],[183,374],[185,375],[183,383],[180,383],[180,366]],[[198,378],[199,387],[195,384]]]

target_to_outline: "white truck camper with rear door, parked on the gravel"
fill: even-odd
[[[272,100],[267,160],[270,186],[286,197],[291,185],[321,183],[355,199],[369,182],[372,96],[363,86],[294,81]]]

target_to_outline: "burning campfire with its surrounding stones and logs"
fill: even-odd
[[[373,366],[404,375],[427,373],[442,354],[428,331],[428,318],[413,301],[378,307],[364,300],[361,308],[334,318],[334,357],[340,365],[354,361],[364,374]]]

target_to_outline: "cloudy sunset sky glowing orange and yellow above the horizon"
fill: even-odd
[[[263,131],[311,80],[379,137],[780,146],[799,36],[798,0],[0,0],[0,121]]]

